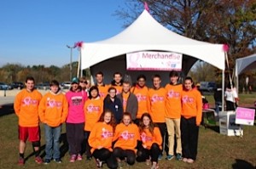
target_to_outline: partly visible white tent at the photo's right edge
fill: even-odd
[[[239,89],[239,75],[247,70],[256,68],[256,54],[249,55],[244,58],[236,59],[236,87]]]

